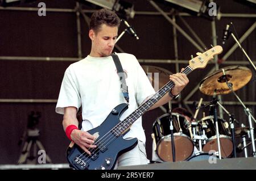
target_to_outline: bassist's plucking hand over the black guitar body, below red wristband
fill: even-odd
[[[71,138],[72,140],[80,146],[80,148],[82,150],[84,150],[86,153],[88,153],[90,155],[90,151],[89,149],[94,149],[97,146],[93,145],[94,141],[96,140],[95,136],[92,136],[92,134],[85,132],[85,131],[81,131],[79,129],[74,129],[71,132]]]

